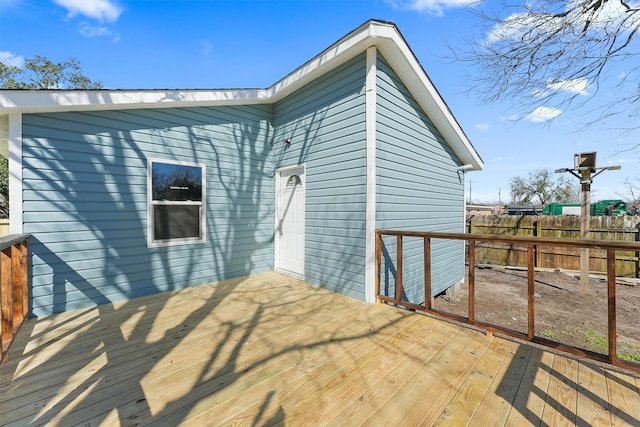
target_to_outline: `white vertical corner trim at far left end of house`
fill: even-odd
[[[9,114],[9,233],[22,226],[22,114]]]

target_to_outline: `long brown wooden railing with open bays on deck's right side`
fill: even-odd
[[[382,236],[395,236],[397,239],[397,259],[395,264],[396,283],[395,298],[380,294],[380,276],[382,270]],[[402,283],[402,257],[403,238],[416,237],[423,239],[424,245],[424,305],[415,304],[403,300]],[[469,262],[469,302],[468,316],[458,316],[435,310],[432,307],[432,286],[431,286],[431,239],[445,240],[465,240],[468,242],[468,262]],[[476,320],[475,313],[475,245],[477,242],[502,242],[510,244],[521,244],[527,247],[527,333],[522,333],[502,326]],[[574,248],[596,248],[603,249],[607,253],[607,319],[608,319],[608,354],[603,355],[586,349],[577,348],[552,341],[535,335],[535,305],[534,305],[534,276],[535,276],[535,251],[537,245],[554,245]],[[439,233],[439,232],[419,232],[419,231],[399,231],[399,230],[376,230],[376,289],[375,294],[378,302],[386,302],[403,306],[412,310],[427,312],[433,315],[442,316],[473,326],[483,328],[488,332],[499,332],[519,339],[546,345],[561,351],[587,357],[600,362],[610,363],[626,369],[640,372],[640,365],[621,360],[617,357],[616,341],[616,272],[615,260],[616,250],[638,251],[640,243],[621,242],[607,240],[586,240],[586,239],[559,239],[559,238],[533,238],[520,236],[496,236],[489,234],[462,234],[462,233]],[[603,307],[604,308],[604,307]]]

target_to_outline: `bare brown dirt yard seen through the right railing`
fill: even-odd
[[[560,271],[535,273],[536,335],[608,353],[607,283],[592,276],[587,292],[579,276]],[[616,285],[618,357],[640,363],[640,284],[621,279]],[[434,308],[468,315],[468,280],[456,295],[440,295]],[[527,331],[527,272],[504,267],[476,268],[476,319],[519,332]]]

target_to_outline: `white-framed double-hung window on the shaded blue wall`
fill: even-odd
[[[149,159],[148,245],[205,241],[205,166]]]

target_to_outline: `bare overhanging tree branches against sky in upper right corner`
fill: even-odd
[[[480,65],[472,84],[487,102],[509,100],[527,114],[559,115],[593,99],[606,79],[617,94],[592,106],[597,117],[637,116],[640,108],[640,5],[622,0],[495,2],[475,8],[486,37],[456,58]],[[624,65],[624,73],[613,68]],[[586,96],[585,96],[586,95]],[[632,120],[630,129],[637,127]],[[626,128],[625,128],[626,129]],[[626,130],[630,130],[626,129]]]

